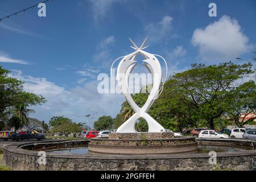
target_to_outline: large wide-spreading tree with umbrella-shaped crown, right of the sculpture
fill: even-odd
[[[209,67],[193,64],[192,69],[177,73],[171,79],[176,80],[177,90],[185,96],[183,104],[196,114],[192,117],[200,117],[214,129],[214,119],[225,113],[230,103],[229,95],[236,90],[236,81],[251,73],[250,68],[251,64],[231,62]]]

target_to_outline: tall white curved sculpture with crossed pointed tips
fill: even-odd
[[[141,47],[138,47],[133,42],[133,40],[130,39],[131,43],[133,44],[131,48],[135,49],[135,52],[118,58],[118,59],[122,58],[122,60],[119,62],[118,68],[117,68],[117,86],[121,94],[126,98],[127,102],[130,104],[130,106],[134,110],[135,114],[132,115],[129,119],[127,119],[127,121],[117,129],[117,133],[135,133],[135,123],[139,118],[144,118],[146,120],[148,124],[148,132],[164,131],[164,127],[161,126],[158,122],[156,122],[155,119],[152,118],[149,114],[147,114],[147,111],[150,109],[153,102],[159,96],[159,92],[163,90],[163,85],[162,85],[162,88],[159,89],[160,84],[162,82],[162,69],[156,56],[161,57],[162,59],[163,57],[143,51],[143,49],[148,47],[148,46],[144,47],[146,40],[147,38],[142,43]],[[131,71],[133,71],[133,68],[136,65],[137,61],[135,61],[135,59],[139,54],[141,54],[144,57],[143,65],[148,69],[148,71],[152,75],[152,89],[143,107],[139,107],[134,102],[128,88],[129,75]],[[166,63],[165,60],[164,62]],[[112,64],[112,67],[113,67],[113,64]],[[166,69],[167,69],[167,64],[166,64]],[[167,77],[167,73],[166,73],[166,77]],[[164,79],[164,81],[166,81],[166,78]]]

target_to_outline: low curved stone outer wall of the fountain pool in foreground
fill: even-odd
[[[191,156],[191,158],[156,158],[140,159],[115,159],[105,157],[96,159],[92,156],[82,158],[78,155],[47,155],[46,165],[39,165],[36,160],[38,156],[29,154],[16,154],[15,152],[4,152],[5,164],[17,170],[147,170],[147,171],[183,171],[183,170],[214,170],[214,169],[236,169],[256,170],[256,156],[223,156],[217,158],[218,166],[210,165],[209,158]],[[152,158],[152,156],[151,156]]]

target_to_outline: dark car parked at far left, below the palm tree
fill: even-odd
[[[46,139],[45,135],[39,134],[37,131],[27,131],[25,134],[13,133],[10,139],[20,141],[23,139],[37,139],[38,141]]]

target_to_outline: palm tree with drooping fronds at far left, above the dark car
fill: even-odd
[[[9,127],[14,127],[15,132],[19,127],[28,124],[28,113],[35,113],[33,109],[27,109],[26,105],[20,104],[14,106],[14,109],[8,111],[10,119],[7,121]]]

